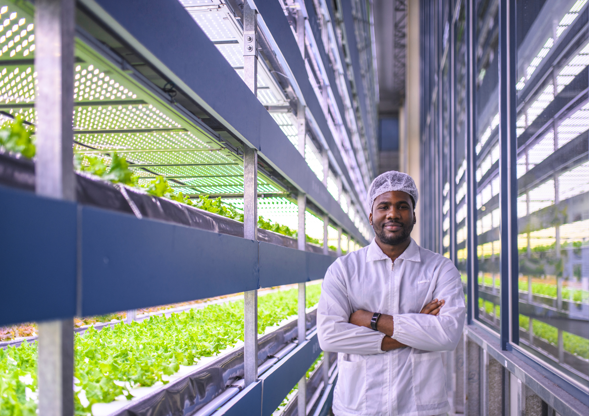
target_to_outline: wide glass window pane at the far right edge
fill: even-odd
[[[543,4],[542,4],[543,3]],[[519,345],[589,380],[586,0],[517,2]],[[484,225],[482,225],[484,227]]]

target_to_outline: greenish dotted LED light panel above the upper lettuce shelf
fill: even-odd
[[[0,110],[21,114],[35,124],[32,17],[10,5],[0,8],[2,18],[0,45],[6,50],[4,59],[0,58]],[[102,157],[108,164],[112,153],[118,152],[140,177],[141,185],[163,175],[178,177],[170,185],[185,194],[243,195],[243,161],[221,147],[213,132],[172,108],[157,87],[137,81],[79,38],[75,56],[76,154]],[[259,192],[283,191],[260,172]]]

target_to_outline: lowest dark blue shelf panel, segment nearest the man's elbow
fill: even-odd
[[[314,335],[302,348],[296,348],[270,368],[264,375],[264,395],[262,397],[262,416],[270,416],[284,400],[300,378],[309,370],[319,354],[319,340]]]

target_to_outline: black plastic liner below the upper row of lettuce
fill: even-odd
[[[143,189],[111,184],[94,175],[76,173],[76,198],[80,204],[175,222],[188,227],[243,237],[243,222],[190,207],[167,198],[158,198]],[[0,151],[0,184],[35,190],[35,164],[31,159]],[[283,247],[297,248],[297,240],[277,232],[258,228],[258,240]],[[323,248],[307,244],[306,251],[323,254]],[[337,257],[329,251],[332,257]]]

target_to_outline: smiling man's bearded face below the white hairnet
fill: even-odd
[[[415,225],[415,211],[407,192],[389,191],[372,204],[370,225],[380,242],[397,245],[406,241]]]

